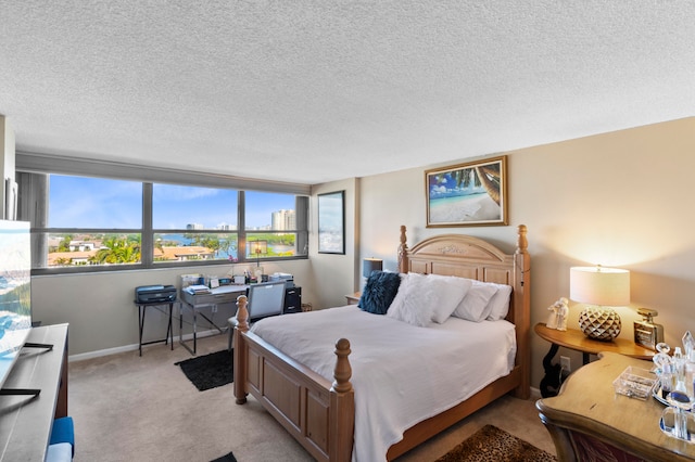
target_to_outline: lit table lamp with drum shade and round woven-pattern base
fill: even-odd
[[[621,329],[612,307],[630,304],[630,271],[598,265],[573,267],[569,274],[569,298],[590,305],[579,315],[579,329],[589,338],[612,341]]]

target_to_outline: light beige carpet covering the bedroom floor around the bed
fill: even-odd
[[[203,356],[227,347],[226,335],[199,338]],[[212,461],[233,451],[240,462],[309,462],[306,452],[260,403],[235,403],[233,387],[199,393],[174,362],[186,348],[151,345],[70,363],[74,462]],[[435,461],[485,424],[554,453],[534,400],[505,396],[397,459]]]

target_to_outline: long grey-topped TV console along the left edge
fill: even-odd
[[[27,339],[46,351],[23,349],[0,392],[2,461],[45,460],[53,419],[67,416],[67,324],[33,328]]]

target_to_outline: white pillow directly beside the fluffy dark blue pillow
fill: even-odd
[[[401,285],[387,317],[427,328],[432,324],[434,313],[434,285],[426,282],[427,277],[418,273],[402,275]]]

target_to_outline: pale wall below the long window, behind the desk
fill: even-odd
[[[255,265],[235,265],[239,274],[244,268]],[[263,264],[264,272],[289,272],[294,283],[302,287],[302,303],[312,303],[315,294],[308,281],[308,260],[288,260]],[[189,267],[182,269],[153,269],[139,271],[97,272],[84,274],[43,275],[31,278],[31,316],[46,324],[70,323],[70,355],[104,354],[131,349],[138,344],[138,308],[134,304],[135,287],[151,284],[178,284],[179,274],[204,273],[225,275],[231,266]],[[175,310],[175,315],[178,309]],[[148,308],[143,341],[164,338],[166,318],[155,309]],[[236,306],[219,306],[213,320],[226,325],[236,313]],[[184,334],[191,332],[190,317],[185,317]],[[199,332],[205,331],[205,323]],[[174,333],[178,341],[178,321]],[[199,324],[200,325],[200,324]]]

